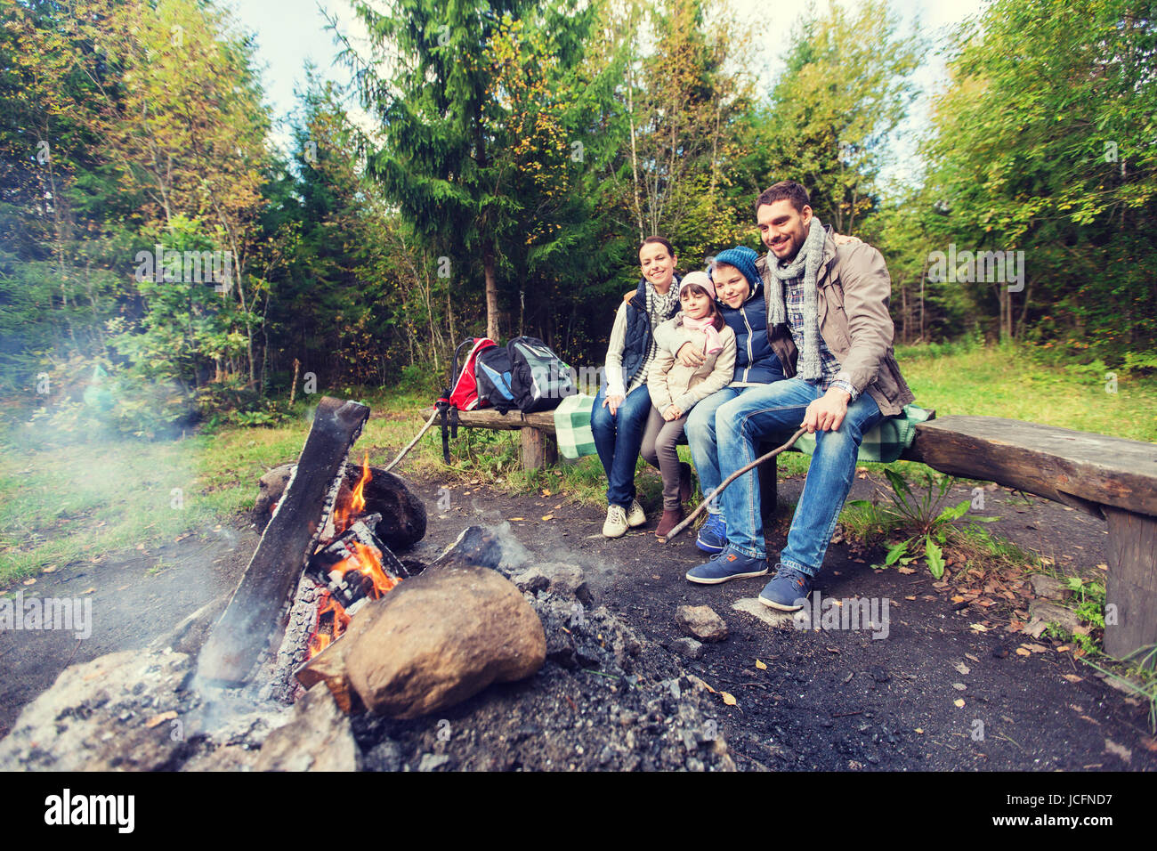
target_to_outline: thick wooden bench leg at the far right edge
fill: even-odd
[[[1105,652],[1120,659],[1157,644],[1157,518],[1110,506],[1104,512],[1108,520]],[[1150,659],[1149,667],[1154,663]]]

